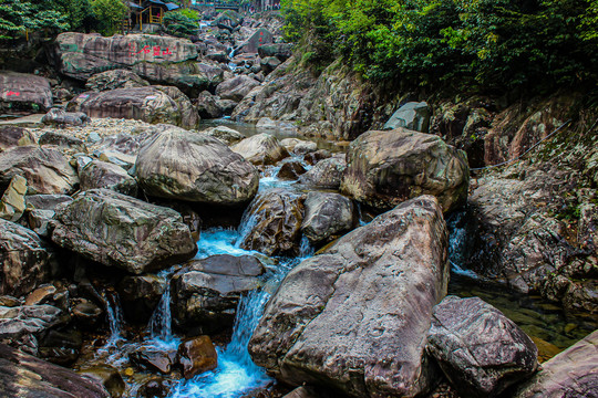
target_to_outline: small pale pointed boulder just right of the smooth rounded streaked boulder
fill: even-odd
[[[278,139],[267,133],[245,138],[231,146],[230,149],[243,155],[254,165],[272,165],[289,156],[289,153],[280,145]]]

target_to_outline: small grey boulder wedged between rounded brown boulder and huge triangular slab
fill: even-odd
[[[339,193],[309,192],[301,231],[312,243],[331,241],[355,224],[353,202]]]

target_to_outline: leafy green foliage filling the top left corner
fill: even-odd
[[[69,29],[64,17],[55,10],[20,0],[0,0],[0,39],[14,39],[33,31]]]

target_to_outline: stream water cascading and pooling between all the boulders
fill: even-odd
[[[217,122],[217,125],[225,124],[240,130],[245,135],[252,135],[257,132],[254,126],[239,125],[229,122]],[[214,125],[214,124],[213,124]],[[210,124],[206,124],[209,127]],[[268,132],[271,133],[271,132]],[[292,133],[275,134],[278,138],[295,137]],[[318,143],[320,148],[333,149],[332,144]],[[306,165],[306,167],[308,167]],[[260,178],[260,191],[272,188],[303,189],[292,181],[283,181],[276,178],[278,167],[266,168]],[[450,258],[452,263],[451,282],[448,293],[463,297],[480,296],[484,301],[493,304],[505,315],[516,322],[527,334],[535,338],[536,344],[545,345],[543,350],[554,349],[551,355],[558,349],[566,348],[575,342],[591,333],[597,328],[595,317],[579,318],[566,314],[563,308],[554,303],[546,302],[539,297],[516,294],[496,283],[478,277],[475,273],[463,270],[460,264],[463,262],[465,229],[460,227],[460,214],[448,219],[451,232]],[[243,219],[238,229],[210,228],[202,231],[197,243],[198,253],[196,259],[205,259],[215,254],[256,254],[257,252],[243,250],[237,245],[243,234],[250,228],[252,220]],[[361,220],[361,224],[365,221]],[[171,385],[168,397],[172,398],[236,398],[246,394],[267,387],[274,380],[266,375],[266,371],[256,366],[249,356],[247,345],[252,331],[260,320],[262,310],[285,275],[300,261],[312,255],[313,250],[307,244],[307,240],[301,248],[300,256],[296,259],[275,258],[272,264],[268,266],[268,272],[262,280],[262,289],[252,291],[241,297],[234,325],[233,335],[227,344],[220,344],[218,352],[218,367],[215,370],[195,376],[189,380],[177,379],[178,375],[171,376],[174,380]],[[176,266],[175,266],[176,268]],[[165,270],[158,274],[165,281],[169,281],[174,269]],[[127,341],[123,334],[122,310],[117,295],[106,296],[109,305],[107,318],[110,321],[110,338],[93,353],[94,364],[107,364],[123,369],[128,367],[128,354],[138,350],[141,347],[157,352],[176,352],[181,339],[173,334],[171,316],[171,290],[166,284],[156,311],[154,312],[147,331],[143,336],[136,336]],[[87,360],[87,359],[86,359]],[[127,373],[125,371],[125,375]],[[151,374],[140,376],[127,375],[127,388],[125,397],[137,397],[138,387],[146,381]]]

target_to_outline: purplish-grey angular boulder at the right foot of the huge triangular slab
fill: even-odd
[[[536,370],[534,342],[478,297],[447,296],[434,307],[427,352],[463,397],[496,397]]]

